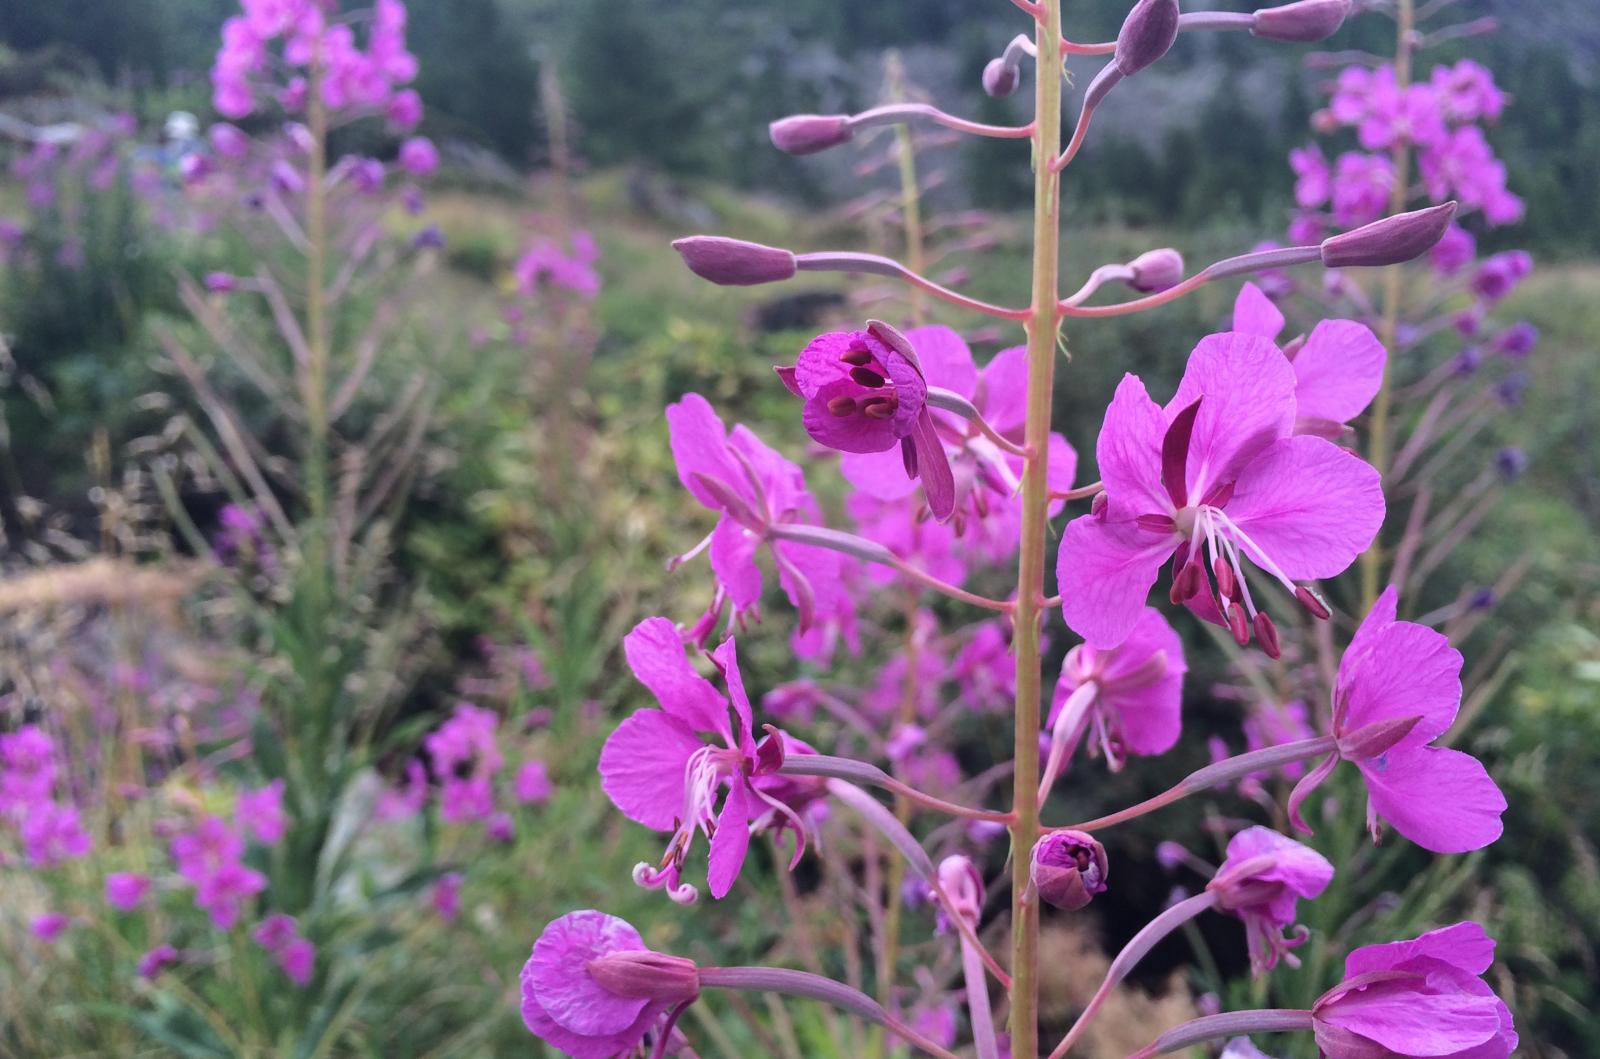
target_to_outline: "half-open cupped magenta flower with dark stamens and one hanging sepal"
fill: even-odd
[[[819,334],[779,376],[805,398],[806,434],[840,453],[899,451],[907,478],[920,478],[928,510],[955,512],[950,461],[928,408],[928,381],[914,342],[874,320],[864,331]]]

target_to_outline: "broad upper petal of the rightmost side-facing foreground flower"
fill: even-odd
[[[1445,734],[1461,707],[1461,651],[1442,633],[1408,621],[1378,632],[1346,689],[1344,731],[1400,717],[1421,717],[1395,750]]]

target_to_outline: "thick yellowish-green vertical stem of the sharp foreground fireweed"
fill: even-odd
[[[1034,43],[1034,296],[1027,320],[1027,421],[1022,443],[1022,539],[1016,573],[1016,771],[1011,813],[1011,1054],[1038,1059],[1038,894],[1029,886],[1038,840],[1038,632],[1050,507],[1050,411],[1061,331],[1061,0],[1040,0]]]

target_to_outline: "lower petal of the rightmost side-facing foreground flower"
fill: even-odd
[[[1424,849],[1482,849],[1504,830],[1506,795],[1470,753],[1413,747],[1357,765],[1373,811]]]

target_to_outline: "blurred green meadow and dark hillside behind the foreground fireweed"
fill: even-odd
[[[1126,10],[1067,6],[1096,40]],[[1302,910],[1302,966],[1280,968],[1269,997],[1237,926],[1202,920],[1152,953],[1082,1054],[1125,1056],[1218,998],[1309,1005],[1349,947],[1464,917],[1499,942],[1491,984],[1517,1014],[1520,1054],[1600,1054],[1600,37],[1586,0],[1459,6],[1501,19],[1437,61],[1475,58],[1510,93],[1491,139],[1526,216],[1480,245],[1531,251],[1534,270],[1494,312],[1536,326],[1538,346],[1461,366],[1482,395],[1451,406],[1450,443],[1414,454],[1434,502],[1461,506],[1413,555],[1427,585],[1405,611],[1448,627],[1467,656],[1458,745],[1504,789],[1506,838],[1442,857],[1374,848],[1349,808],[1360,784],[1336,776],[1323,795],[1349,811],[1330,808],[1309,841],[1341,875]],[[517,976],[544,923],[579,907],[702,963],[822,963],[870,989],[870,955],[848,953],[885,929],[904,931],[906,968],[936,963],[930,910],[902,921],[891,893],[885,926],[886,905],[874,918],[842,897],[854,880],[811,859],[786,873],[771,843],[752,845],[739,886],[781,893],[776,912],[736,893],[670,915],[629,883],[659,837],[616,813],[595,765],[618,718],[648,701],[624,633],[651,614],[688,624],[710,595],[704,560],[667,569],[712,518],[678,482],[662,408],[704,394],[798,459],[808,438],[771,365],[819,331],[909,312],[874,277],[712,286],[670,242],[726,232],[898,253],[888,130],[795,160],[765,125],[894,93],[1018,120],[976,90],[1014,30],[1006,8],[411,0],[421,123],[352,122],[328,139],[331,166],[379,160],[382,189],[360,197],[357,170],[342,171],[349,198],[326,218],[349,242],[318,266],[341,291],[322,309],[333,408],[320,443],[306,440],[318,419],[280,315],[306,314],[288,282],[304,232],[270,216],[274,192],[250,200],[256,178],[219,184],[184,162],[184,142],[214,150],[206,72],[237,5],[0,10],[0,1056],[554,1056],[523,1027]],[[1384,34],[1381,14],[1352,18],[1341,46],[1381,48]],[[1328,72],[1306,66],[1310,48],[1261,59],[1224,37],[1107,110],[1067,181],[1066,277],[1152,246],[1198,266],[1283,238],[1286,154],[1309,141]],[[264,112],[238,125],[258,142],[282,131]],[[40,130],[67,126],[80,134],[40,150]],[[437,146],[437,171],[397,154],[413,133]],[[262,187],[282,157],[298,155],[250,155]],[[917,166],[936,270],[973,298],[1019,302],[1026,146],[930,138]],[[958,221],[938,229],[978,210],[971,237]],[[1146,315],[1069,322],[1054,413],[1078,483],[1096,478],[1122,374],[1166,392],[1195,341],[1227,330],[1237,293],[1222,282]],[[1318,318],[1315,290],[1283,306],[1296,326]],[[979,360],[1022,341],[1010,323],[974,334],[947,307],[934,318]],[[1450,328],[1418,336],[1394,360],[1402,387],[1451,373],[1459,349]],[[1414,424],[1422,410],[1398,414]],[[808,483],[843,522],[832,466],[810,464]],[[336,530],[307,534],[312,517]],[[1386,533],[1400,537],[1394,515]],[[974,581],[1003,598],[1010,573]],[[768,595],[739,641],[758,704],[802,675],[880,678],[870,643],[797,662],[792,608]],[[1336,600],[1354,609],[1354,595]],[[960,605],[930,609],[955,627]],[[893,606],[874,621],[907,633]],[[1075,769],[1059,805],[1091,817],[1205,765],[1208,739],[1245,745],[1246,691],[1206,633],[1184,629],[1171,758]],[[1048,638],[1053,677],[1074,640],[1059,622]],[[822,745],[837,726],[824,717],[806,737]],[[973,710],[952,731],[963,776],[1006,760],[992,717]],[[11,811],[22,793],[3,777],[43,784],[50,813],[74,819],[43,821],[38,801]],[[462,797],[486,798],[482,811],[453,803],[453,782],[478,784]],[[1267,784],[1282,803],[1288,784]],[[1118,832],[1112,889],[1046,920],[1048,1025],[1064,1029],[1109,955],[1194,885],[1158,845],[1206,833],[1216,848],[1198,851],[1214,857],[1240,805],[1218,792]],[[242,875],[197,907],[226,880],[189,872],[178,849],[211,841],[213,821],[238,835],[206,856]],[[845,861],[877,856],[851,845],[870,846],[859,832],[830,840]],[[1003,840],[982,856],[998,870]],[[112,875],[147,891],[128,881],[139,893],[120,907]],[[270,915],[294,917],[310,966],[293,942],[262,941]],[[717,995],[683,1029],[701,1056],[882,1054],[838,1022]],[[1274,1054],[1306,1046],[1285,1038]]]

